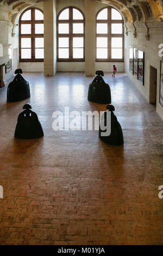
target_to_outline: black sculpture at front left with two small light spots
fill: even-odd
[[[15,129],[15,138],[35,139],[43,136],[42,126],[37,114],[30,110],[29,104],[23,106],[25,109],[18,115],[17,125]]]

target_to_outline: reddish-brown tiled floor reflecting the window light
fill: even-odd
[[[31,98],[6,102],[0,89],[1,245],[163,245],[162,120],[125,74],[112,78],[112,104],[124,147],[98,131],[53,131],[52,113],[104,111],[87,101],[92,78],[82,73],[24,74]],[[29,102],[45,136],[14,139],[17,116]]]

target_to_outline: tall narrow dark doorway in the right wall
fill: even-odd
[[[149,77],[149,103],[156,105],[156,93],[157,93],[157,70],[150,66]]]

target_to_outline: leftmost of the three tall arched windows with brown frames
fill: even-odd
[[[20,62],[43,62],[43,12],[30,8],[20,16]]]

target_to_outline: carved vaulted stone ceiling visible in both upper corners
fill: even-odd
[[[44,0],[46,1],[46,0]],[[163,21],[163,0],[95,0],[120,10],[125,22],[136,24],[148,21]],[[15,22],[22,10],[43,0],[0,0],[10,7],[9,19]]]

